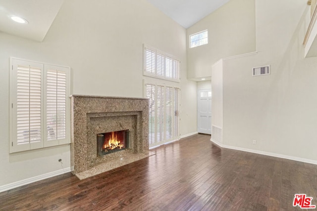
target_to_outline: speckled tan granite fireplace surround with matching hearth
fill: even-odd
[[[71,96],[71,166],[80,179],[146,158],[149,101],[145,98]],[[129,130],[126,150],[97,156],[97,134]]]

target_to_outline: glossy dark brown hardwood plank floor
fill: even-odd
[[[317,166],[222,149],[197,134],[79,180],[71,173],[0,193],[0,210],[292,211],[317,205]]]

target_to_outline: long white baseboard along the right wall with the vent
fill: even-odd
[[[305,159],[305,158],[298,158],[298,157],[282,155],[282,154],[277,154],[277,153],[271,153],[271,152],[264,152],[264,151],[260,151],[260,150],[247,149],[247,148],[242,148],[242,147],[224,145],[224,144],[217,143],[217,142],[215,142],[212,139],[211,139],[211,141],[214,144],[216,144],[216,145],[218,145],[218,146],[220,146],[222,148],[239,150],[239,151],[244,151],[244,152],[251,152],[251,153],[260,154],[260,155],[266,155],[266,156],[271,156],[271,157],[276,157],[276,158],[283,158],[283,159],[288,159],[288,160],[292,160],[292,161],[299,161],[299,162],[303,162],[303,163],[317,165],[317,161],[315,161],[315,160],[310,160],[310,159]]]

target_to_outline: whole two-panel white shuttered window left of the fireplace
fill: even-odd
[[[10,153],[69,143],[69,68],[10,59]]]

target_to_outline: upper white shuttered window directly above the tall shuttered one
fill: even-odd
[[[144,75],[180,82],[180,61],[156,48],[144,45]]]

